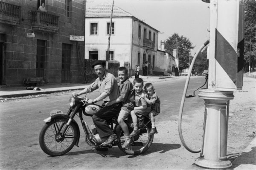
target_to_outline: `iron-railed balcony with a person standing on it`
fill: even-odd
[[[48,12],[32,11],[32,29],[50,33],[58,32],[59,16]]]

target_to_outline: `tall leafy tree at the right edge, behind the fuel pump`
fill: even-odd
[[[250,54],[251,68],[254,70],[256,66],[256,1],[244,0],[244,71],[249,71]]]

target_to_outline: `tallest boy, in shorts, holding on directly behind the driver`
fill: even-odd
[[[106,106],[113,105],[114,103],[122,103],[121,111],[117,118],[117,122],[119,123],[120,127],[124,131],[125,134],[125,143],[122,145],[122,148],[128,147],[131,144],[131,137],[129,136],[128,126],[124,122],[124,120],[128,119],[131,111],[134,109],[134,87],[132,83],[129,81],[128,78],[128,70],[125,67],[120,67],[118,69],[118,77],[119,77],[119,92],[120,96],[106,103]]]

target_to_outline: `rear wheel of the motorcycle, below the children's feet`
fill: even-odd
[[[132,131],[132,129],[129,129],[129,131]],[[118,137],[120,139],[120,144],[118,144],[119,149],[128,155],[139,155],[144,153],[146,150],[149,149],[154,139],[154,135],[150,135],[149,132],[149,127],[145,126],[145,124],[143,123],[143,128],[140,129],[140,134],[131,137],[131,139],[133,140],[131,145],[127,148],[122,148],[122,144],[125,142],[125,136],[123,134],[123,130],[120,128],[120,131],[118,133]]]

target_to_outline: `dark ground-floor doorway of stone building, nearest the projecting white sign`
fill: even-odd
[[[70,82],[71,45],[62,44],[61,82]]]

